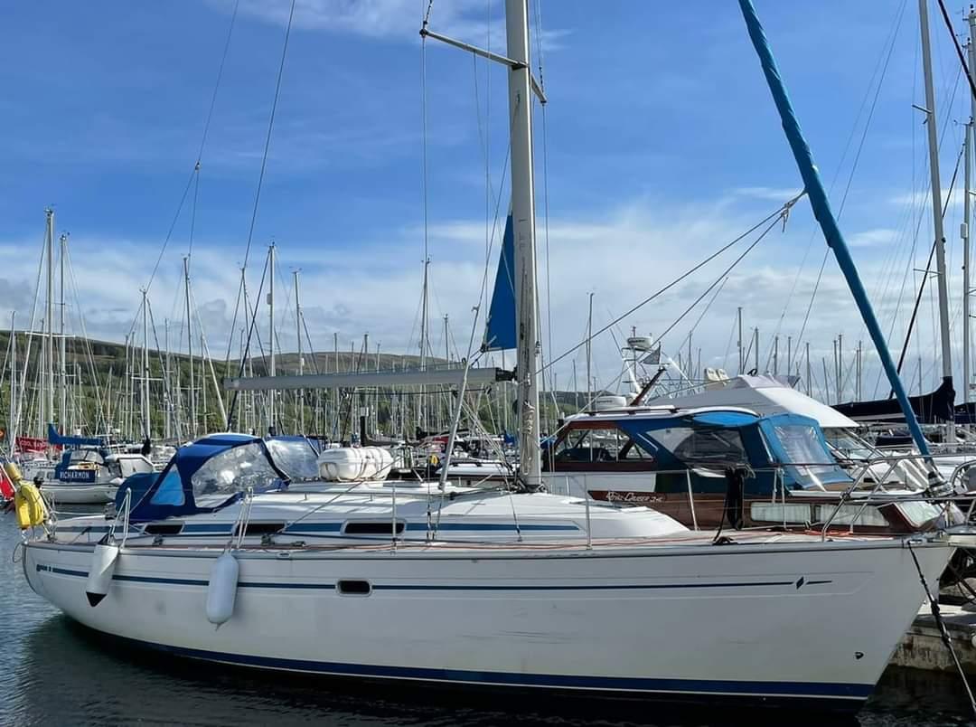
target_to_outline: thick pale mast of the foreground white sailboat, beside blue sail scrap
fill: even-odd
[[[532,88],[528,0],[506,0],[508,118],[511,120],[511,221],[515,238],[515,310],[518,321],[518,454],[522,481],[542,481],[539,449],[539,360],[536,300],[535,184],[532,168]]]

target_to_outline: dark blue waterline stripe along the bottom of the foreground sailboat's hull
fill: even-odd
[[[415,679],[422,681],[483,684],[486,686],[544,687],[552,689],[582,689],[598,692],[647,692],[702,695],[735,695],[741,697],[799,697],[863,701],[874,691],[872,684],[834,682],[761,682],[702,679],[647,679],[620,676],[577,676],[568,674],[526,674],[510,671],[468,671],[467,669],[436,669],[417,666],[386,666],[360,663],[311,662],[280,659],[247,654],[187,649],[137,639],[123,639],[131,643],[170,654],[211,662],[288,669],[318,674],[360,676],[374,678]]]

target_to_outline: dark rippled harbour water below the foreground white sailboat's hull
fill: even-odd
[[[0,516],[0,725],[793,725],[803,715],[689,711],[648,703],[445,692],[296,678],[146,655],[61,616],[12,560],[20,535]],[[19,556],[20,553],[18,552]],[[857,718],[819,725],[976,724],[958,677],[889,669]]]

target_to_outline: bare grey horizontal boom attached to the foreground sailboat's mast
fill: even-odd
[[[301,376],[253,376],[225,378],[229,391],[271,391],[284,389],[354,389],[366,386],[456,385],[465,376],[464,366],[405,369],[400,371],[362,371],[359,373],[316,373]],[[468,368],[468,385],[481,386],[496,381],[512,381],[514,374],[504,368]]]

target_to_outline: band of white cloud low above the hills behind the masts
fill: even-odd
[[[542,229],[538,256],[543,319],[551,318],[552,321],[550,350],[549,334],[544,325],[543,343],[549,350],[548,358],[582,341],[590,291],[595,293],[593,326],[598,329],[752,227],[754,222],[754,215],[747,216],[734,205],[715,205],[712,201],[678,206],[653,199],[631,200],[586,219],[551,219],[551,269],[548,276]],[[820,254],[811,254],[806,269],[797,276],[811,228],[807,208],[798,206],[786,233],[779,225],[775,226],[732,272],[693,335],[693,349],[696,356],[697,349],[702,349],[704,365],[724,366],[730,370],[736,367],[734,325],[736,309],[740,306],[746,337],[749,338],[752,328],[760,330],[760,367],[766,363],[772,337],[777,331],[781,335],[781,362],[785,362],[788,335],[793,336],[794,353],[800,349],[797,336],[817,284],[821,259]],[[386,353],[414,353],[418,342],[422,279],[417,233],[411,228],[393,228],[388,231],[383,244],[353,240],[348,246],[335,250],[279,245],[277,293],[280,302],[277,313],[281,348],[285,351],[295,349],[291,270],[301,268],[305,321],[316,349],[331,350],[334,333],[339,334],[340,346],[344,350],[348,350],[350,342],[358,347],[363,333],[368,331],[372,345],[379,343]],[[472,307],[479,303],[485,273],[484,222],[442,220],[431,225],[430,233],[430,343],[434,351],[443,350],[442,321],[447,315],[453,339],[452,351],[464,349],[473,320]],[[500,235],[501,230],[496,234]],[[877,240],[888,234],[889,231],[879,228],[859,235],[879,243]],[[630,334],[631,325],[641,334],[662,334],[707,291],[712,281],[720,277],[752,239],[754,236],[743,240],[719,259],[620,321],[613,329],[618,341],[622,335]],[[352,242],[357,244],[353,246]],[[69,318],[75,321],[76,306],[80,303],[87,330],[94,337],[121,341],[126,332],[135,328],[139,339],[141,327],[134,326],[133,319],[140,304],[140,287],[145,284],[155,260],[157,243],[75,235],[71,239],[71,249],[78,298],[76,302],[73,295],[69,296]],[[497,251],[497,243],[495,249]],[[25,254],[24,250],[30,252]],[[10,309],[16,307],[19,327],[26,324],[39,254],[36,240],[27,245],[13,240],[0,243],[0,255],[8,261],[3,279],[0,279],[0,321],[9,321]],[[171,321],[171,342],[179,339],[183,319],[182,254],[174,250],[166,255],[150,291],[156,336],[160,342],[164,320]],[[204,321],[210,350],[221,359],[231,335],[240,275],[233,261],[239,255],[240,251],[207,240],[198,240],[193,253],[194,299]],[[263,258],[260,251],[255,251],[252,256],[248,274],[252,305],[259,298]],[[496,265],[493,255],[488,261],[489,289]],[[881,262],[870,259],[862,266],[862,276],[869,289],[877,286],[883,270]],[[549,295],[547,277],[551,281]],[[885,331],[893,315],[905,314],[905,311],[895,310],[895,293],[889,292],[883,300],[874,301]],[[905,301],[911,298],[910,291],[902,300],[901,308],[905,308]],[[711,293],[707,293],[705,300],[673,327],[665,338],[666,350],[673,355],[678,348],[686,351],[686,344],[682,342],[704,310],[705,303],[711,299]],[[790,306],[781,322],[788,300]],[[926,351],[932,349],[932,334],[928,328],[931,315],[927,306],[928,301],[925,301],[919,315],[922,324],[919,345]],[[43,309],[43,301],[40,308]],[[481,335],[484,311],[482,308],[475,340]],[[259,325],[266,341],[266,309],[260,315]],[[242,321],[243,314],[239,314],[230,346],[234,354],[238,351]],[[76,322],[72,322],[70,328],[71,332],[80,332]],[[845,344],[845,350],[853,350],[858,339],[863,339],[868,346],[868,337],[847,286],[836,272],[833,260],[829,260],[803,336],[803,342],[811,343],[811,358],[818,369],[815,371],[818,380],[822,378],[820,359],[826,359],[831,365],[831,342],[841,332],[849,342]],[[895,326],[892,337],[896,347],[903,334],[901,324]],[[179,346],[184,347],[184,344]],[[620,364],[617,345],[609,332],[596,339],[593,351],[597,375],[601,381],[611,381],[619,372]],[[462,350],[461,353],[466,352]],[[563,385],[568,381],[573,358],[582,363],[582,356],[580,350],[557,367]],[[781,365],[785,367],[785,363]],[[873,386],[876,370],[873,357],[868,356],[866,367],[866,380]]]

